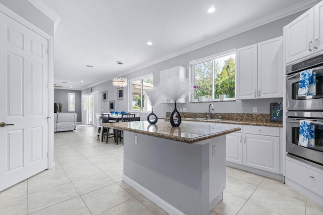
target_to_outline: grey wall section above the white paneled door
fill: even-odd
[[[54,35],[53,21],[27,0],[0,0],[0,4],[3,4],[16,14],[19,14],[19,16],[31,22],[50,36]]]

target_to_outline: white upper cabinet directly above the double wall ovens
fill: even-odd
[[[285,26],[286,63],[323,50],[323,2]]]

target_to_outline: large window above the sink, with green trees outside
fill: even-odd
[[[235,98],[235,55],[235,50],[230,50],[190,62],[192,84],[199,87],[191,101],[197,101],[198,96],[217,100],[220,94]]]

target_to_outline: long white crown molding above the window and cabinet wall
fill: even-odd
[[[194,45],[188,46],[188,47],[186,47],[184,49],[181,49],[181,50],[178,50],[178,51],[176,51],[174,53],[171,53],[171,54],[165,55],[163,57],[160,57],[158,59],[152,60],[150,62],[144,63],[141,66],[134,67],[134,68],[126,71],[122,75],[124,76],[124,75],[130,74],[130,73],[133,73],[134,71],[138,71],[140,69],[143,69],[143,68],[146,68],[148,66],[163,62],[163,61],[171,59],[173,57],[177,57],[179,55],[182,55],[182,54],[185,54],[187,52],[196,50],[198,48],[202,48],[202,47],[210,45],[212,43],[219,42],[219,41],[227,39],[229,37],[232,37],[232,36],[238,35],[240,33],[246,32],[248,30],[251,30],[251,29],[260,27],[262,25],[274,22],[276,20],[282,19],[284,17],[288,17],[288,16],[293,15],[295,13],[298,13],[298,12],[304,11],[306,9],[309,9],[309,8],[313,7],[314,5],[316,5],[318,2],[320,2],[320,0],[302,1],[302,2],[300,2],[298,4],[295,4],[295,5],[292,5],[292,6],[288,7],[288,8],[285,8],[285,9],[282,9],[280,11],[277,11],[276,13],[271,14],[269,16],[265,16],[265,17],[263,17],[261,19],[258,19],[258,20],[255,20],[253,22],[250,22],[248,24],[242,25],[242,26],[240,26],[238,28],[234,28],[234,29],[226,31],[226,32],[224,32],[224,33],[222,33],[220,35],[211,37],[208,40],[204,40],[202,42],[195,43]]]

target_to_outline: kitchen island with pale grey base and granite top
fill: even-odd
[[[124,130],[123,181],[159,207],[170,214],[206,215],[222,200],[225,134],[240,128],[147,121],[106,126]]]

